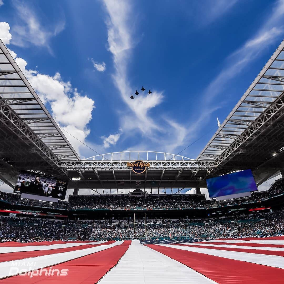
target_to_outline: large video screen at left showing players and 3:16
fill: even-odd
[[[51,176],[21,171],[14,192],[65,199],[67,183]]]

